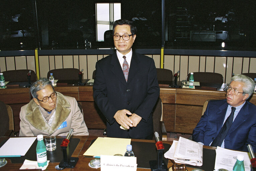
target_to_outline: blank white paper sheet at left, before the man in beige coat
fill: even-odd
[[[0,148],[0,157],[24,156],[35,139],[36,137],[9,138]]]

